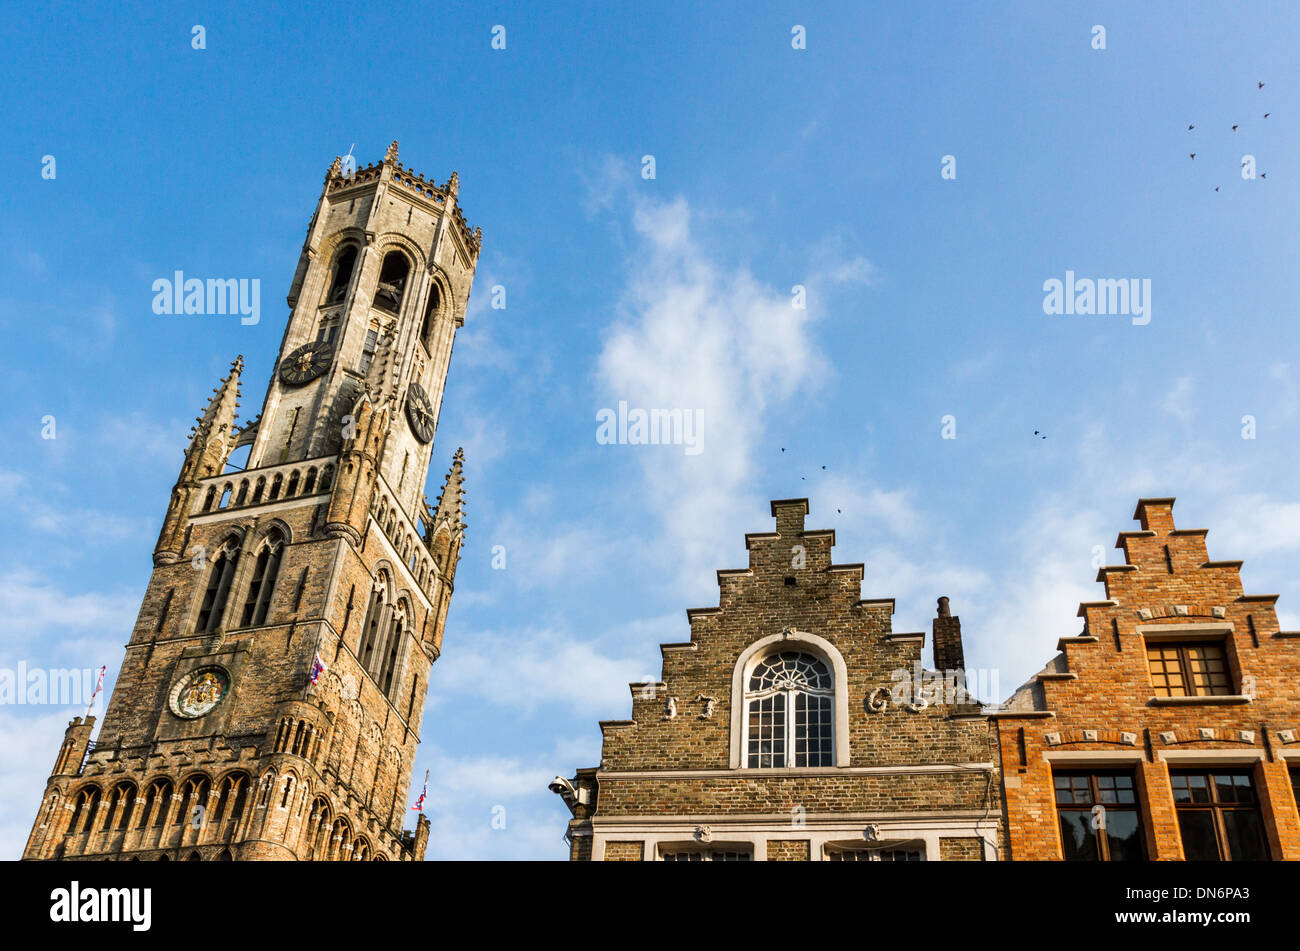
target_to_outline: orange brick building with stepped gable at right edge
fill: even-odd
[[[1013,860],[1300,859],[1300,631],[1173,507],[1138,503],[1106,599],[991,715]]]

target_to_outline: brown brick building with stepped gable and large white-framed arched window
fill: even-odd
[[[551,790],[575,860],[994,859],[1000,780],[988,721],[965,692],[961,622],[940,600],[924,634],[863,565],[805,530],[807,500],[772,503],[749,568],[688,611],[663,676],[632,683],[632,718],[601,724],[599,767]]]

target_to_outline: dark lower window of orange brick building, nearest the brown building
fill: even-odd
[[[1134,774],[1056,772],[1061,857],[1066,861],[1141,861],[1141,817]]]

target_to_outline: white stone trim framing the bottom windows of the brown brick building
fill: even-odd
[[[630,820],[630,822],[628,822]],[[628,822],[624,825],[624,822]],[[636,825],[633,825],[636,822]],[[651,825],[653,822],[653,825]],[[867,825],[878,828],[878,838],[863,837]],[[598,822],[592,833],[592,859],[604,860],[608,842],[642,843],[642,861],[663,861],[664,848],[705,848],[716,851],[750,850],[753,861],[767,861],[768,842],[792,839],[809,842],[809,860],[826,861],[828,847],[898,848],[920,847],[923,861],[940,860],[940,839],[978,838],[984,842],[984,861],[997,860],[993,839],[997,817],[954,818],[881,818],[879,816],[837,816],[833,821],[809,818],[803,828],[793,828],[789,818],[719,818],[675,816],[671,822],[656,817],[620,817],[616,824]],[[708,826],[708,842],[696,837],[696,829]]]

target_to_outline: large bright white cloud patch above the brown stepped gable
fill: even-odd
[[[810,287],[807,308],[790,288],[764,283],[749,268],[710,255],[692,231],[686,200],[638,201],[640,246],[619,320],[598,360],[602,407],[702,413],[701,452],[676,447],[606,447],[638,453],[645,500],[660,520],[659,564],[677,569],[686,590],[701,591],[723,552],[744,533],[760,500],[754,455],[770,409],[805,399],[829,373],[812,326],[826,298]],[[824,246],[814,262],[820,286],[871,279],[871,265]]]

